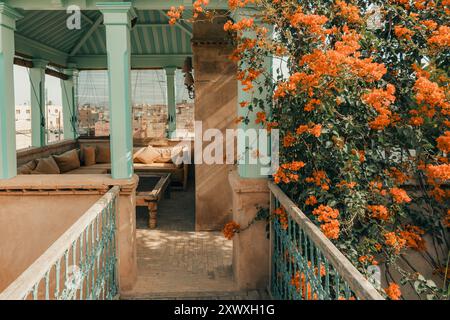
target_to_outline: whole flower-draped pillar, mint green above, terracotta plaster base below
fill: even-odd
[[[245,13],[245,12],[244,12]],[[237,20],[242,17],[237,17]],[[246,38],[256,38],[251,31],[244,32]],[[246,68],[245,64],[242,66]],[[268,74],[272,73],[272,59],[264,60],[263,69]],[[270,114],[269,108],[261,109],[255,105],[252,112],[247,107],[241,107],[241,102],[253,103],[254,99],[270,99],[271,93],[266,89],[265,78],[260,76],[254,83],[254,88],[249,91],[243,90],[238,81],[238,104],[237,116],[245,118],[249,122],[241,121],[238,125],[238,164],[237,171],[229,175],[229,181],[233,190],[233,220],[241,228],[246,228],[255,218],[258,207],[269,206],[269,189],[267,185],[267,174],[270,163],[263,163],[262,157],[271,156],[269,141],[264,131],[263,124],[256,124],[256,113],[265,112]],[[262,90],[260,90],[262,87]],[[268,161],[267,161],[268,162]],[[257,222],[245,231],[238,233],[233,238],[233,272],[239,289],[263,289],[269,284],[269,240],[266,236],[266,223]]]

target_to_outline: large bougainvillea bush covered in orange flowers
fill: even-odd
[[[195,12],[205,5],[196,1]],[[394,272],[418,293],[448,298],[450,1],[229,6],[240,13],[224,26],[236,40],[238,80],[270,92],[240,105],[282,137],[274,181],[359,270],[385,267],[391,299],[402,294]],[[267,56],[288,74],[274,78]],[[442,283],[416,272],[411,250]]]

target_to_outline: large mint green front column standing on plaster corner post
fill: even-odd
[[[111,174],[114,179],[127,179],[133,175],[130,28],[136,13],[130,2],[101,2],[97,7],[106,26]]]

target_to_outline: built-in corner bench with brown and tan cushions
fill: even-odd
[[[182,159],[192,154],[189,143],[160,140],[158,146],[133,148],[133,168],[138,175],[171,174],[175,187],[186,189],[189,164]],[[142,142],[141,142],[142,145]],[[151,155],[144,157],[148,148]],[[148,151],[147,151],[148,153]],[[141,156],[139,156],[141,154]],[[18,155],[18,175],[26,174],[109,174],[111,153],[108,139],[74,140],[52,146],[22,150]]]

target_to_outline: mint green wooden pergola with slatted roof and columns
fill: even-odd
[[[169,137],[176,130],[175,70],[192,56],[193,26],[168,23],[167,10],[183,5],[192,15],[193,0],[0,0],[0,179],[16,175],[13,63],[30,68],[32,146],[45,145],[45,74],[61,77],[64,137],[75,130],[78,70],[108,69],[112,177],[130,178],[132,116],[130,69],[164,68],[167,76]],[[226,9],[227,0],[209,8]],[[76,7],[75,7],[76,6]],[[66,26],[71,11],[81,10],[80,29]],[[268,69],[270,63],[268,63]],[[242,90],[238,102],[250,100]],[[237,106],[240,115],[243,110]],[[250,126],[242,125],[243,129]],[[242,138],[241,138],[242,140]],[[245,137],[244,137],[245,140]],[[239,164],[244,178],[259,177],[259,165]]]

